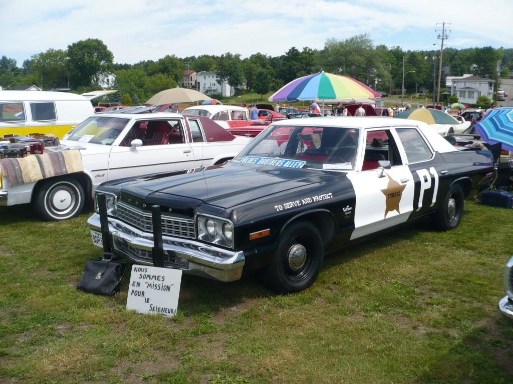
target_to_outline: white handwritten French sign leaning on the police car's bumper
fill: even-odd
[[[176,314],[182,271],[179,269],[132,265],[127,309],[140,313]]]

